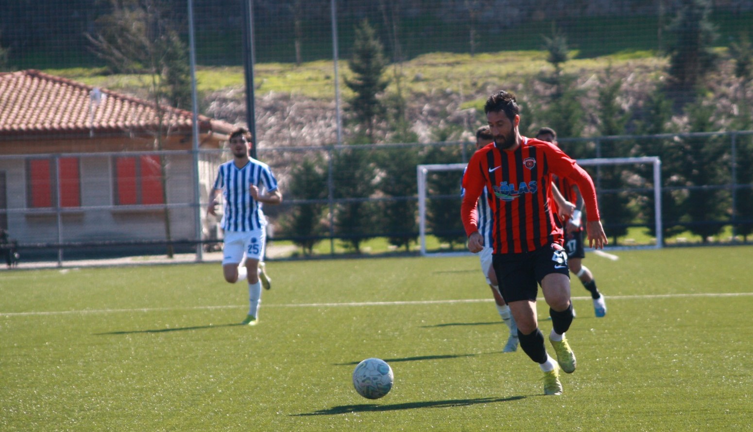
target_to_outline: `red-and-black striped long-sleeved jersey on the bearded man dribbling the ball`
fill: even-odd
[[[589,221],[599,221],[596,191],[590,176],[556,145],[522,137],[513,151],[487,145],[471,157],[463,176],[461,218],[465,233],[477,230],[477,199],[483,187],[492,208],[495,254],[533,251],[551,243],[562,245],[562,228],[550,204],[552,175],[578,184]]]

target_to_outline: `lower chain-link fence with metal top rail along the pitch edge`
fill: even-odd
[[[753,154],[751,138],[753,132],[719,132],[567,139],[560,145],[566,151],[579,146],[584,158],[604,157],[620,145],[630,149],[622,157],[641,156],[639,149],[661,157],[664,238],[675,242],[678,233],[690,232],[703,242],[744,242],[753,231],[751,170],[741,167]],[[692,155],[677,156],[711,147],[718,151],[713,163],[693,165]],[[386,239],[397,251],[415,251],[416,165],[465,163],[472,151],[468,142],[264,149],[261,157],[279,178],[285,197],[281,205],[264,208],[271,238],[291,242],[302,255],[315,254],[315,247],[319,255],[337,254],[336,246],[359,252],[374,238]],[[222,233],[218,219],[206,215],[207,197],[217,167],[229,159],[227,151],[200,151],[196,181],[194,155],[187,151],[0,157],[0,172],[22,177],[8,184],[0,218],[27,259],[198,253],[197,246],[211,251]],[[626,241],[631,228],[651,244],[651,166],[587,170],[613,244],[634,245],[635,240]],[[87,180],[76,173],[85,173]],[[462,248],[460,181],[459,172],[428,179],[427,224],[428,235],[437,238],[434,248],[447,248],[447,243]],[[198,203],[194,187],[200,192]],[[195,236],[197,223],[201,239]]]

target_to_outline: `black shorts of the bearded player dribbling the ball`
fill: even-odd
[[[538,285],[550,273],[570,277],[565,249],[556,244],[523,254],[494,254],[492,266],[506,303],[536,300]]]

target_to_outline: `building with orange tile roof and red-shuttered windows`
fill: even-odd
[[[223,148],[233,128],[199,115],[200,149]],[[22,246],[191,241],[192,148],[190,111],[41,71],[0,73],[0,228]],[[205,201],[220,156],[200,153]]]

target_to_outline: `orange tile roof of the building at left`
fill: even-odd
[[[0,135],[139,132],[157,129],[153,102],[29,69],[0,73]],[[166,125],[191,132],[193,114],[172,107]],[[93,111],[93,119],[92,119]],[[93,121],[92,121],[93,120]],[[233,125],[199,115],[200,133],[229,134]]]

